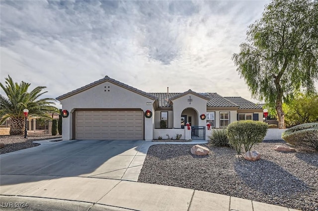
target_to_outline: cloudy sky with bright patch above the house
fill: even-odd
[[[105,75],[145,92],[253,102],[233,53],[268,0],[0,1],[0,82],[56,98]]]

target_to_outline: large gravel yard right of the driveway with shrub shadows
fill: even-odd
[[[210,155],[191,155],[192,145],[149,148],[138,182],[224,194],[303,211],[318,211],[318,152],[274,151],[282,141],[253,147],[258,161],[236,157],[233,149],[210,147]]]

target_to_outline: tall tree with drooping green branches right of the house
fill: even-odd
[[[252,97],[275,108],[285,128],[283,102],[300,89],[316,91],[318,1],[273,0],[246,34],[232,59]]]

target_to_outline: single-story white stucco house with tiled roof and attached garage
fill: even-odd
[[[63,140],[175,139],[176,134],[207,139],[211,129],[231,122],[263,120],[262,107],[241,97],[191,90],[146,93],[108,76],[56,99],[67,113]]]

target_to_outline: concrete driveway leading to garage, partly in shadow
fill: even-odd
[[[0,156],[0,174],[79,176],[137,181],[152,142],[39,141],[40,146]]]

